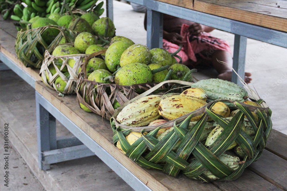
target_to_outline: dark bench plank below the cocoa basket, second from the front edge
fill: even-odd
[[[213,184],[217,186],[220,190],[224,191],[281,190],[248,169],[245,169],[243,174],[236,180],[215,181],[213,182]]]

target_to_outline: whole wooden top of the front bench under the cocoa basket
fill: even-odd
[[[59,97],[41,81],[36,82],[36,91],[152,190],[287,190],[287,135],[279,131],[272,130],[261,158],[245,169],[240,178],[230,182],[201,183],[184,175],[173,178],[160,170],[141,168],[114,146],[110,122],[82,110],[75,95]]]

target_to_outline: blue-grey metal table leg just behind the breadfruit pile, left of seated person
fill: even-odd
[[[163,14],[147,9],[147,46],[162,48]]]

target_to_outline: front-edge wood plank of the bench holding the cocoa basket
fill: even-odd
[[[202,184],[186,176],[174,178],[158,170],[141,168],[113,145],[110,122],[94,113],[83,111],[75,95],[59,97],[56,91],[40,81],[36,82],[35,89],[152,190],[179,190],[179,185],[181,190],[219,190],[211,183]]]

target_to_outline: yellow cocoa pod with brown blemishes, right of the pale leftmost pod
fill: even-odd
[[[185,95],[173,95],[162,99],[158,105],[158,113],[167,120],[177,119],[185,114],[191,113],[207,104],[202,99]],[[191,118],[191,121],[198,121],[202,116]]]

